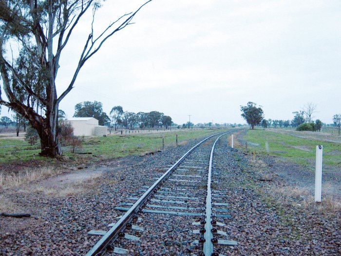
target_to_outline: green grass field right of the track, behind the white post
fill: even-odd
[[[323,164],[341,167],[340,143],[298,138],[261,129],[248,130],[245,139],[248,142],[259,144],[258,146],[248,143],[249,151],[255,151],[256,154],[284,157],[306,166],[315,162],[316,146],[323,145]]]

